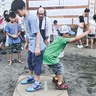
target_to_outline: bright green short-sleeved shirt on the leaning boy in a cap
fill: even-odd
[[[65,48],[71,38],[58,37],[44,51],[43,64],[52,65],[59,63],[58,55]]]

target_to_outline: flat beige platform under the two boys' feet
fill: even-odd
[[[53,76],[41,76],[42,89],[36,92],[26,92],[26,88],[30,86],[21,85],[20,81],[26,78],[26,75],[20,76],[13,96],[68,96],[67,90],[55,89],[55,84],[52,82]]]

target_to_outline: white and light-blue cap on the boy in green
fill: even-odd
[[[75,35],[75,32],[71,30],[70,26],[63,25],[59,28],[60,33],[68,33],[70,35]]]

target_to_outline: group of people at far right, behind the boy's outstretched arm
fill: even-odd
[[[94,30],[86,36],[86,45],[85,45],[85,48],[88,48],[89,47],[89,40],[90,40],[91,41],[90,48],[93,49],[94,48],[94,41],[96,38],[96,14],[93,15],[93,18],[91,20],[89,20],[88,24],[86,24],[85,18],[87,17],[87,19],[88,19],[89,12],[90,12],[90,9],[86,8],[84,10],[84,13],[79,16],[79,23],[77,24],[78,28],[77,28],[76,36],[85,32],[90,26],[93,27]],[[78,40],[76,42],[76,45],[77,45],[77,48],[83,48],[83,41],[81,39]]]

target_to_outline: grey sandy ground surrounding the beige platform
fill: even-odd
[[[0,96],[12,96],[18,77],[28,73],[27,53],[22,51],[24,64],[13,63],[9,66],[8,54],[0,54],[0,58]],[[16,54],[14,58],[17,58]],[[96,96],[96,48],[77,49],[74,43],[68,44],[61,63],[64,64],[64,79],[69,86],[69,96]],[[42,74],[50,73],[49,69],[43,68]]]

